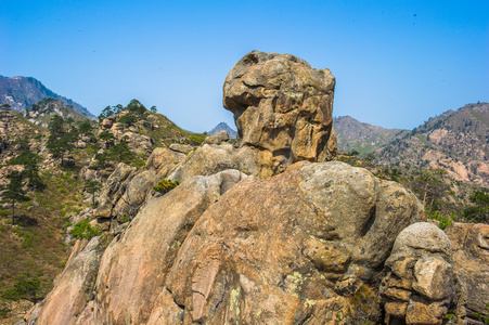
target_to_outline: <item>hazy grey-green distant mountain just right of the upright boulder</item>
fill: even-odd
[[[338,139],[338,150],[345,153],[355,150],[361,155],[373,153],[409,132],[402,129],[384,129],[360,122],[350,116],[335,117],[333,123]]]

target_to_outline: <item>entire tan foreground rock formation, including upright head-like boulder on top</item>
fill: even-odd
[[[487,274],[473,277],[487,271],[487,227],[447,236],[402,185],[318,162],[334,155],[333,86],[292,55],[246,55],[224,83],[240,147],[219,135],[186,155],[157,148],[145,170],[120,164],[95,216],[136,217],[78,242],[28,324],[441,324],[484,312]],[[163,179],[181,183],[155,194]]]

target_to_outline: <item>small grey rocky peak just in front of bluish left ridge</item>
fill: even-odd
[[[57,115],[64,119],[70,117],[75,121],[89,119],[87,116],[75,112],[70,106],[65,105],[62,101],[55,99],[43,99],[39,101],[30,108],[27,108],[21,113],[30,122],[48,128],[49,121],[52,116]]]

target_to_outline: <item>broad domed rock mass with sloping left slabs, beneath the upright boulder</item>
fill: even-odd
[[[402,186],[344,162],[188,177],[114,238],[73,322],[376,322],[383,263],[423,219]]]

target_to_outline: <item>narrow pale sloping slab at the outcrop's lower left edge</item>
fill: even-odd
[[[48,295],[36,324],[76,324],[77,316],[86,308],[93,289],[100,257],[100,237],[94,237],[72,256],[54,283],[54,289]],[[34,320],[30,318],[29,323]]]

